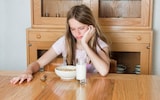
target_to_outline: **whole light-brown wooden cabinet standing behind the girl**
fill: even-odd
[[[126,65],[127,73],[134,73],[135,66],[140,65],[141,74],[151,74],[153,0],[31,0],[32,26],[27,29],[28,64],[64,34],[66,14],[77,4],[91,8],[112,41],[112,57],[117,64]]]

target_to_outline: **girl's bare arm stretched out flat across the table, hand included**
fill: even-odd
[[[50,48],[44,55],[42,55],[37,61],[32,62],[28,65],[26,71],[20,76],[14,77],[10,80],[11,84],[23,83],[25,80],[30,82],[33,79],[33,73],[39,71],[40,67],[44,67],[46,64],[51,62],[55,57],[57,57],[56,52],[53,48]]]

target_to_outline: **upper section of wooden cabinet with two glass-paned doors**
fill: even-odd
[[[65,28],[68,10],[91,8],[103,28],[146,29],[152,25],[153,0],[31,0],[32,27]]]

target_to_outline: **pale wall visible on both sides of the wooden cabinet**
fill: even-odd
[[[154,0],[153,74],[160,75],[160,0]],[[30,0],[0,0],[0,70],[26,69]]]

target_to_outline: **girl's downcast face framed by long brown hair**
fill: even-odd
[[[89,29],[87,24],[80,23],[74,18],[69,20],[69,26],[72,35],[77,39],[77,41],[81,40],[85,32]]]

